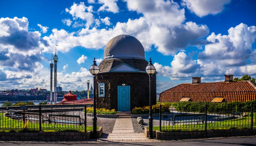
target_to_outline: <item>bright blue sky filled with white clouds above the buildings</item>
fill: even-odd
[[[191,82],[256,77],[253,0],[1,0],[0,90],[50,90],[57,46],[57,86],[87,90],[93,58],[107,42],[136,37],[151,57],[157,92]]]

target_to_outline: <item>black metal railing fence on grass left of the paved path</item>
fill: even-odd
[[[84,110],[85,109],[85,110]],[[0,130],[11,131],[84,131],[86,105],[82,108],[42,108],[0,110]]]

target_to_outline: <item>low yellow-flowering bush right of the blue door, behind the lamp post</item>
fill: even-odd
[[[161,104],[161,105],[162,105],[162,108],[161,108],[162,113],[170,111],[169,105],[164,105],[164,104]],[[152,113],[159,113],[159,105],[152,106]],[[149,114],[149,106],[135,107],[132,109],[132,114]]]

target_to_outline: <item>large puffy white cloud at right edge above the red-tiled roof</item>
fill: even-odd
[[[207,37],[212,44],[206,45],[205,50],[198,54],[198,58],[204,62],[214,60],[216,64],[224,67],[246,65],[253,53],[252,44],[256,39],[256,27],[248,27],[241,23],[235,28],[231,27],[228,33],[215,35],[213,32]]]

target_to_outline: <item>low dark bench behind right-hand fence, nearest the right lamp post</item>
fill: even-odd
[[[191,118],[186,118],[191,117]],[[179,119],[181,118],[181,119]],[[184,119],[185,118],[185,119]],[[169,125],[175,125],[175,123],[190,123],[190,122],[202,122],[204,123],[204,114],[176,114],[173,118],[169,119]]]

